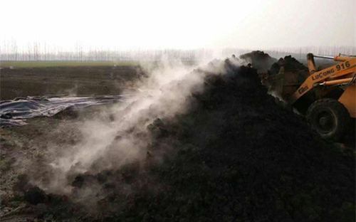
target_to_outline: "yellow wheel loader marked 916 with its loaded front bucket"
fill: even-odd
[[[317,70],[314,58],[333,59],[340,63]],[[355,125],[356,57],[314,56],[309,53],[307,61],[308,73],[285,71],[281,65],[272,91],[275,90],[283,100],[303,113],[321,137],[339,141],[351,124]]]

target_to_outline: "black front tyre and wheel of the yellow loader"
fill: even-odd
[[[350,114],[337,100],[315,101],[307,111],[307,120],[323,139],[337,142],[347,133]]]

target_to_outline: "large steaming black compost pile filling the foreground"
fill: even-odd
[[[73,177],[77,191],[100,187],[92,206],[78,209],[80,203],[73,207],[70,197],[56,197],[41,216],[355,221],[353,155],[325,144],[302,117],[276,105],[256,69],[221,62],[227,74],[207,75],[204,93],[192,95],[187,114],[157,119],[148,127],[154,139],[143,160]],[[38,189],[28,190],[46,199]]]

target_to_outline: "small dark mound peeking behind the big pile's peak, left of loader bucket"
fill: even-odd
[[[277,62],[276,58],[272,58],[263,51],[252,51],[241,55],[240,58],[251,63],[258,73],[266,73],[271,68],[271,65]]]

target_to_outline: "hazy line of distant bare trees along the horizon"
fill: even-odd
[[[2,43],[0,48],[0,60],[3,61],[34,61],[34,60],[63,60],[63,61],[117,61],[117,60],[160,60],[180,59],[180,60],[204,60],[212,58],[224,58],[232,54],[241,55],[253,50],[261,50],[269,53],[272,57],[279,58],[291,55],[297,59],[305,58],[307,53],[318,55],[335,56],[339,53],[345,55],[356,55],[355,46],[326,46],[326,47],[303,47],[303,48],[224,48],[221,50],[195,49],[157,49],[157,50],[122,50],[103,47],[83,48],[80,45],[71,48],[61,48],[58,46],[48,46],[46,43],[28,44],[26,47],[19,47],[16,41]]]

